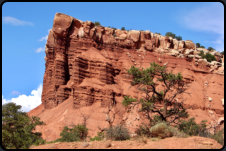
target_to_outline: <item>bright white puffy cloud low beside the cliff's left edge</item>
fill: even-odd
[[[30,110],[39,106],[41,102],[41,95],[42,95],[42,84],[40,84],[37,90],[32,90],[31,95],[19,95],[17,98],[12,98],[11,100],[6,100],[3,98],[2,95],[2,105],[9,102],[14,102],[17,105],[22,106],[22,110],[25,112],[29,112]]]

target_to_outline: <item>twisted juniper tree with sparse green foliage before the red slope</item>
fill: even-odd
[[[176,99],[176,96],[187,92],[185,92],[185,82],[182,75],[180,73],[167,72],[165,67],[153,62],[150,63],[150,67],[147,69],[139,69],[134,66],[128,69],[127,72],[133,76],[131,85],[138,85],[137,88],[145,93],[145,96],[140,98],[140,100],[124,96],[122,103],[124,106],[141,104],[141,111],[145,113],[150,121],[152,119],[149,113],[154,112],[158,113],[162,121],[176,123],[177,119],[188,117],[183,107],[184,100],[178,101]],[[154,81],[156,78],[157,80]],[[162,83],[164,89],[158,91],[156,88],[157,83]],[[157,103],[163,104],[163,108],[158,108]]]

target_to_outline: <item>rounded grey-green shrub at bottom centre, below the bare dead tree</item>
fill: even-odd
[[[122,125],[109,127],[106,129],[106,138],[120,141],[130,139],[129,130]]]

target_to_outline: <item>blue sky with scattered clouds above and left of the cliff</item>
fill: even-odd
[[[15,102],[28,112],[41,103],[44,47],[57,12],[106,27],[173,32],[183,40],[224,50],[220,2],[7,2],[2,5],[2,104]]]

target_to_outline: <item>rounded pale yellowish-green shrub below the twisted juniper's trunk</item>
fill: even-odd
[[[153,137],[160,137],[162,139],[173,136],[173,133],[170,131],[166,123],[158,123],[155,126],[152,126],[150,132]]]

